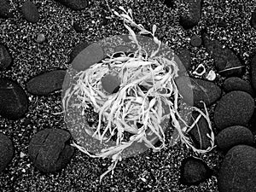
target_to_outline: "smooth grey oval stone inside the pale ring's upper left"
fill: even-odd
[[[98,61],[102,61],[104,52],[100,45],[93,43],[83,49],[72,61],[73,69],[84,71]]]

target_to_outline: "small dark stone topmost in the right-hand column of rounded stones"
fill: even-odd
[[[253,88],[251,84],[237,77],[231,77],[231,78],[225,79],[223,88],[226,92],[230,92],[232,90],[241,90],[241,91],[247,92],[251,96],[254,96]]]

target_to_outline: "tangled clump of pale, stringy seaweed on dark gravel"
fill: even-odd
[[[153,26],[152,32],[148,32],[141,24],[134,22],[131,9],[119,9],[122,10],[122,14],[116,11],[113,13],[124,21],[129,38],[137,44],[137,51],[132,54],[119,52],[118,57],[114,56],[114,53],[87,70],[77,73],[76,83],[72,89],[67,89],[62,99],[64,113],[67,113],[70,98],[75,96],[77,102],[73,107],[80,109],[81,116],[89,108],[93,108],[98,114],[96,126],[84,127],[84,131],[90,137],[100,143],[114,140],[112,146],[102,148],[96,154],[91,154],[88,148],[73,142],[73,146],[90,157],[112,158],[112,165],[102,174],[100,181],[108,172],[113,172],[118,161],[122,159],[125,148],[131,147],[133,143],[144,143],[154,150],[166,148],[165,129],[169,127],[162,126],[165,121],[171,122],[171,126],[174,127],[174,144],[179,140],[196,153],[206,153],[214,148],[214,135],[206,106],[204,105],[205,112],[192,107],[192,110],[200,113],[192,125],[188,125],[179,113],[178,101],[181,96],[174,80],[178,76],[177,63],[174,59],[168,60],[163,56],[157,56],[161,42],[154,35],[156,26]],[[140,30],[139,34],[152,36],[158,49],[148,55],[130,26]],[[102,78],[109,74],[120,79],[119,90],[112,94],[102,88]],[[212,146],[206,150],[195,148],[188,137],[188,132],[201,117],[207,119],[212,133],[208,135]],[[160,146],[154,145],[156,139],[160,141]]]

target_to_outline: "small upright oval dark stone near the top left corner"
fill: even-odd
[[[31,23],[37,23],[39,20],[39,12],[37,6],[31,1],[22,4],[21,12],[24,18]]]

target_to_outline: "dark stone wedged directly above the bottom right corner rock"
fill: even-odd
[[[236,125],[225,128],[220,131],[216,137],[218,148],[227,151],[230,148],[239,145],[253,145],[253,133],[247,127]]]

